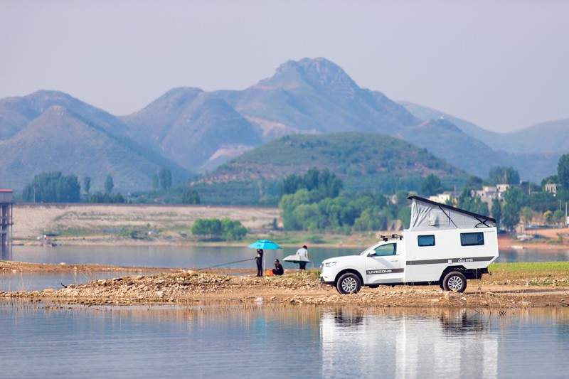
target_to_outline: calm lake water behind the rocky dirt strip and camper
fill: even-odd
[[[358,254],[363,249],[313,247],[310,257],[312,267],[330,257]],[[296,252],[294,248],[284,250],[265,250],[265,267],[272,267],[275,258],[282,261],[287,255]],[[67,265],[101,264],[127,267],[169,267],[169,268],[206,268],[217,265],[227,268],[251,269],[256,272],[252,257],[255,250],[247,247],[200,247],[200,246],[14,246],[10,253],[5,253],[1,260],[17,262],[50,263]],[[569,250],[503,250],[497,262],[552,262],[569,260]],[[243,261],[243,262],[238,262]],[[237,262],[223,265],[228,262]],[[282,262],[285,269],[297,268],[297,265]],[[311,267],[309,264],[307,267]],[[61,289],[62,284],[81,284],[93,279],[122,277],[128,273],[111,272],[92,274],[56,273],[56,274],[0,274],[0,291],[28,291],[46,288]],[[131,273],[132,274],[132,273]]]

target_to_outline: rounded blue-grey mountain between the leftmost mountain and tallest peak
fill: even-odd
[[[129,137],[195,171],[215,169],[262,144],[245,117],[197,88],[170,90],[122,121],[130,126]]]

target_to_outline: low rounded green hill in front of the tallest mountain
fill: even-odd
[[[204,201],[223,203],[229,193],[240,201],[259,201],[277,191],[277,181],[308,169],[329,169],[348,191],[395,193],[418,189],[422,177],[435,174],[444,183],[462,183],[468,175],[425,149],[377,133],[295,134],[245,152],[191,184]]]

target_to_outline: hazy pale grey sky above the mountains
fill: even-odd
[[[0,98],[60,90],[122,115],[317,57],[496,132],[569,118],[569,1],[0,0]]]

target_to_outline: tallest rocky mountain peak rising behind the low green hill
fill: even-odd
[[[344,70],[324,58],[289,61],[271,78],[244,91],[218,91],[235,110],[265,133],[378,132],[391,134],[418,124],[404,107],[381,92],[356,85]],[[274,132],[266,125],[277,124]]]

